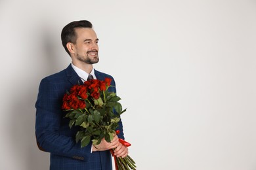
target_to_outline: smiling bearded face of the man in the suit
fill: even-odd
[[[88,64],[98,63],[98,38],[91,28],[75,28],[74,59]]]

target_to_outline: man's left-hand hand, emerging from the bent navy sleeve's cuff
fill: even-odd
[[[100,144],[93,145],[93,152],[110,150],[112,148],[116,148],[117,146],[119,146],[119,141],[117,135],[115,135],[114,139],[110,143],[108,143],[105,139],[102,139]]]

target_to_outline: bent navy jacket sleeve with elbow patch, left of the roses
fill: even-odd
[[[91,143],[81,148],[80,143],[76,143],[74,136],[72,137],[69,127],[63,126],[64,115],[61,110],[62,96],[60,96],[59,88],[60,84],[51,82],[47,78],[40,83],[35,103],[37,145],[45,152],[89,161]]]

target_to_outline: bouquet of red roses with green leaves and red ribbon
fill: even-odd
[[[81,147],[100,144],[104,138],[112,141],[120,115],[126,111],[118,101],[120,97],[114,92],[108,92],[111,78],[102,80],[88,80],[82,85],[74,85],[70,92],[63,97],[62,109],[67,111],[66,118],[70,118],[69,126],[79,126],[80,131],[75,135],[75,141],[81,141]],[[119,139],[125,146],[131,144]],[[113,154],[113,150],[110,150]],[[130,156],[115,158],[116,169],[135,169],[135,161]]]

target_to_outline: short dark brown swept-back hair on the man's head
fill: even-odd
[[[76,42],[76,34],[75,34],[75,28],[77,27],[88,27],[93,28],[93,24],[87,20],[81,20],[81,21],[74,21],[70,22],[70,24],[66,25],[62,31],[61,31],[61,41],[62,45],[64,46],[66,52],[68,52],[68,55],[70,55],[70,52],[68,51],[68,48],[66,44],[68,42],[72,42],[75,44]]]

